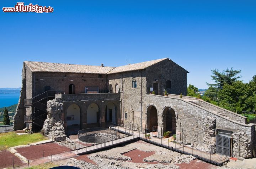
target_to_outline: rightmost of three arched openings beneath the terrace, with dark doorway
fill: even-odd
[[[117,106],[111,101],[105,106],[105,122],[117,123]]]

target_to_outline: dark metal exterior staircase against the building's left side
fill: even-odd
[[[47,118],[47,101],[54,99],[55,93],[57,91],[46,91],[31,99],[24,99],[24,106],[34,107],[34,112],[31,115],[24,116],[24,123],[32,123],[43,127],[44,121]]]

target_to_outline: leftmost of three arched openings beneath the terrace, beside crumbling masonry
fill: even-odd
[[[66,125],[68,134],[76,133],[80,130],[81,111],[77,104],[70,104],[66,111]]]

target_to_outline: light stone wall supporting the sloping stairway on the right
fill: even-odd
[[[242,131],[243,133],[238,134],[240,135],[239,137],[233,138],[234,143],[238,142],[238,144],[234,144],[234,150],[238,146],[244,146],[244,153],[240,152],[240,157],[247,158],[252,156],[252,150],[255,145],[255,129],[252,127],[254,124],[236,122],[215,112],[210,112],[203,107],[194,105],[184,99],[147,94],[146,105],[152,104],[158,110],[159,124],[161,124],[162,110],[164,107],[170,106],[175,110],[177,113],[176,134],[179,141],[184,141],[185,139],[187,143],[194,141],[194,145],[198,147],[208,140],[208,144],[203,144],[203,149],[209,150],[209,145],[214,145],[214,137],[217,134],[217,129],[229,130],[233,133]],[[210,127],[214,126],[214,123],[216,123],[215,135],[212,134],[214,127]],[[236,157],[239,156],[238,151],[234,151],[233,154]]]

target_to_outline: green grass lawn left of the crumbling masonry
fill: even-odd
[[[5,140],[7,147],[14,147],[18,145],[26,145],[32,142],[47,140],[48,138],[41,135],[41,133],[34,134],[23,134],[18,135],[15,132],[1,133],[0,134],[0,150],[6,149]]]

